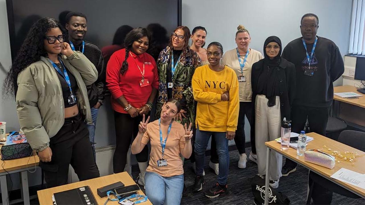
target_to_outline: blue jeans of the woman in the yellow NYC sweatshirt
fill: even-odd
[[[196,135],[195,135],[196,175],[203,175],[205,150],[207,149],[210,136],[213,136],[216,142],[218,163],[219,163],[218,183],[220,185],[226,185],[228,178],[228,167],[229,167],[228,140],[226,139],[226,132],[200,131],[199,127],[196,129]]]

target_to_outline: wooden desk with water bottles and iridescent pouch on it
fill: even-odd
[[[307,145],[307,150],[309,149],[321,149],[323,145],[326,145],[328,148],[331,148],[332,150],[336,151],[353,151],[357,152],[359,155],[365,155],[365,152],[362,152],[360,150],[357,150],[353,147],[347,146],[346,144],[342,144],[340,142],[337,142],[335,140],[332,140],[330,138],[327,138],[325,136],[316,134],[314,132],[306,134],[307,136],[311,136],[314,138],[311,142]],[[265,193],[269,193],[269,165],[270,165],[270,151],[276,151],[279,154],[285,156],[286,158],[289,158],[296,163],[306,167],[307,169],[314,171],[315,173],[321,175],[322,177],[344,187],[347,190],[350,190],[351,192],[357,194],[358,196],[361,196],[362,198],[365,198],[365,189],[361,189],[360,187],[350,185],[348,183],[338,181],[337,179],[333,179],[330,176],[337,172],[341,168],[349,169],[352,171],[356,171],[361,174],[365,174],[365,156],[362,158],[358,158],[356,162],[354,162],[354,165],[352,165],[349,162],[341,162],[337,163],[333,169],[327,169],[325,167],[315,165],[309,162],[304,161],[304,155],[298,156],[296,153],[296,149],[289,148],[288,150],[281,150],[280,143],[277,143],[275,140],[270,142],[265,142],[265,145],[267,146],[267,153],[266,153],[266,182],[265,182]],[[265,204],[267,204],[268,199],[265,194]]]

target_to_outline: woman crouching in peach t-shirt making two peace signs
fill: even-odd
[[[162,106],[161,117],[151,123],[143,116],[138,135],[132,143],[132,154],[143,150],[151,142],[149,166],[146,169],[146,195],[152,204],[180,204],[184,189],[183,160],[192,152],[191,123],[185,127],[174,121],[180,112],[179,101],[170,99]]]

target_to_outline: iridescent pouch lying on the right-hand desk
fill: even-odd
[[[311,149],[304,152],[304,161],[314,163],[316,165],[326,167],[328,169],[333,169],[333,167],[335,167],[336,164],[334,156],[326,154],[316,149]]]

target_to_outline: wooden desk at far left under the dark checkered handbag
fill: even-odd
[[[12,173],[20,173],[20,181],[22,185],[22,200],[24,204],[30,204],[29,187],[28,187],[28,170],[33,170],[38,167],[39,158],[37,155],[11,160],[0,160],[0,185],[1,185],[1,199],[4,204],[8,202],[8,186],[6,175]]]

